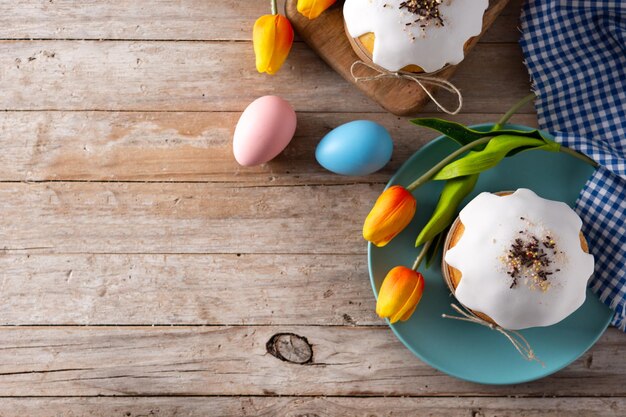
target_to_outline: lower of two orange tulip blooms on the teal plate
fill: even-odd
[[[411,317],[424,294],[424,277],[405,266],[396,266],[387,273],[378,293],[376,314],[390,323]]]

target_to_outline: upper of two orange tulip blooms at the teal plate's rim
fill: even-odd
[[[363,237],[376,246],[385,246],[411,222],[416,204],[406,188],[400,185],[389,187],[367,215]]]

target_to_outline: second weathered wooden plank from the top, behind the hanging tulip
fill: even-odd
[[[453,81],[467,113],[501,113],[530,90],[516,44],[478,45]],[[298,111],[381,111],[302,43],[268,76],[248,42],[0,41],[0,90],[0,110],[241,111],[278,94]]]

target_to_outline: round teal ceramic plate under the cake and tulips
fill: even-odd
[[[474,126],[489,128],[491,125]],[[528,129],[522,126],[512,128]],[[416,152],[393,176],[389,185],[408,185],[454,149],[450,139],[439,137]],[[593,168],[562,153],[528,151],[506,158],[497,167],[481,174],[469,201],[482,191],[529,188],[538,195],[573,205],[592,174]],[[410,267],[417,256],[414,247],[418,231],[432,213],[442,184],[429,182],[414,193],[417,214],[411,224],[391,243],[382,248],[368,247],[372,288],[378,289],[387,272],[397,265]],[[550,375],[580,357],[607,328],[611,311],[587,291],[585,303],[562,322],[549,327],[523,330],[537,362],[522,358],[504,336],[486,327],[444,319],[442,313],[456,314],[441,276],[440,255],[430,268],[423,266],[426,288],[413,316],[406,322],[390,325],[404,345],[422,361],[468,381],[483,384],[515,384]]]

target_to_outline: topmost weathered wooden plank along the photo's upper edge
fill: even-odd
[[[521,0],[513,0],[485,37],[515,42]],[[283,10],[284,1],[279,1]],[[250,40],[269,2],[236,0],[17,0],[0,3],[0,39]]]

